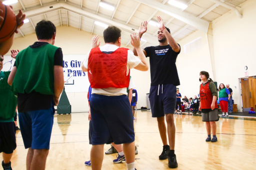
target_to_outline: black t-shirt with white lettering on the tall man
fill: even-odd
[[[150,62],[151,86],[158,84],[180,85],[175,64],[180,50],[179,52],[173,51],[169,44],[150,46],[144,50]]]

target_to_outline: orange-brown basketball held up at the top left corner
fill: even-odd
[[[8,5],[2,4],[0,1],[0,9],[3,11],[0,16],[3,21],[0,21],[0,42],[9,39],[16,29],[16,16]]]

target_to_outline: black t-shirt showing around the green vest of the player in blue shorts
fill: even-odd
[[[31,48],[38,48],[48,44],[47,42],[35,42],[33,45],[30,45]],[[61,48],[58,48],[54,54],[54,65],[63,66],[63,54]],[[14,63],[14,66],[16,63]],[[51,104],[54,105],[54,100],[52,95],[44,95],[38,92],[31,92],[29,94],[18,93],[17,97],[18,102],[18,111],[19,112],[28,112],[35,110],[43,110],[51,107]]]

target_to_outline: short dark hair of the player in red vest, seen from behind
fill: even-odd
[[[121,29],[116,26],[110,25],[103,31],[105,43],[115,43],[119,37],[121,37]]]

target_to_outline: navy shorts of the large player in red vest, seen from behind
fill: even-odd
[[[133,115],[126,95],[90,98],[92,145],[127,144],[134,141]]]

